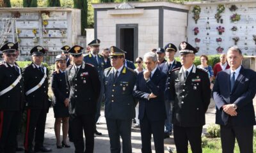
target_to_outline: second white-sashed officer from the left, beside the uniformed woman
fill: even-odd
[[[33,47],[30,51],[33,62],[22,71],[26,94],[27,122],[24,147],[25,152],[33,152],[35,133],[35,152],[51,152],[44,147],[44,131],[46,115],[51,103],[48,96],[49,71],[42,65],[45,49]]]

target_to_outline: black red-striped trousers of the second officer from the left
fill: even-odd
[[[26,133],[24,140],[25,150],[28,151],[33,149],[34,135],[35,148],[40,148],[44,146],[44,131],[47,112],[47,109],[33,110],[28,108],[26,120]]]

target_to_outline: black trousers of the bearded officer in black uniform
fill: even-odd
[[[93,153],[95,114],[70,115],[72,139],[75,145],[75,153]],[[84,138],[85,135],[85,149]]]

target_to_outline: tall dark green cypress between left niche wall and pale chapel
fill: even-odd
[[[87,0],[74,0],[74,8],[81,9],[81,35],[85,36],[87,27]]]

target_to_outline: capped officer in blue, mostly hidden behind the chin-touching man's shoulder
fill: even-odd
[[[165,45],[164,50],[168,61],[164,62],[164,64],[161,64],[161,66],[159,66],[159,70],[170,76],[172,69],[180,68],[181,64],[174,59],[174,55],[177,52],[177,47],[175,47],[175,45],[168,43]],[[167,119],[165,120],[164,124],[164,138],[169,138],[170,135],[172,135],[172,103],[174,101],[174,97],[172,97],[170,94],[170,82],[170,77],[167,77],[164,90],[164,101],[167,115]]]

